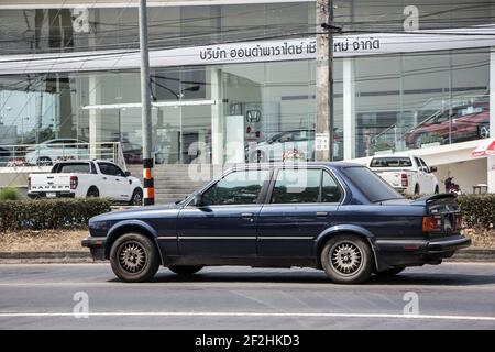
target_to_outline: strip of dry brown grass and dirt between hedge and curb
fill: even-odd
[[[494,229],[466,229],[463,233],[473,240],[473,246],[495,249]],[[88,235],[88,230],[0,232],[0,252],[87,251],[80,240]]]

